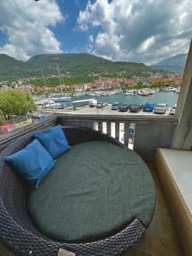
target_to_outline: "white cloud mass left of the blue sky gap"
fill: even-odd
[[[32,55],[60,53],[61,44],[50,26],[65,20],[55,0],[6,0],[0,2],[0,30],[8,42],[1,54],[27,60]]]

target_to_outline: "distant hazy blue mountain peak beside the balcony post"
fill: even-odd
[[[174,55],[172,58],[165,59],[151,66],[152,68],[167,70],[175,73],[183,73],[187,54]]]

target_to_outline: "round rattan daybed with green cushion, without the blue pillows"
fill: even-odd
[[[5,161],[26,147],[32,134],[0,155],[0,241],[17,255],[56,256],[61,249],[87,256],[123,253],[143,235],[154,214],[148,167],[112,137],[74,127],[64,131],[72,149],[37,190],[29,189]],[[73,158],[75,152],[79,157]]]

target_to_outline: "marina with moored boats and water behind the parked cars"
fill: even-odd
[[[89,108],[89,103],[92,101],[101,103],[108,102],[109,105],[113,102],[119,102],[120,104],[126,103],[130,105],[144,105],[146,102],[154,102],[155,104],[165,103],[168,105],[168,108],[172,108],[177,104],[178,93],[173,90],[169,91],[154,91],[148,96],[136,94],[131,91],[131,94],[127,92],[123,93],[121,91],[116,92],[115,94],[109,95],[105,92],[96,93],[96,94],[80,94],[78,96],[38,96],[35,97],[35,102],[38,109],[73,109],[77,110],[79,108]],[[56,99],[56,100],[55,100]],[[60,100],[58,100],[60,99]]]

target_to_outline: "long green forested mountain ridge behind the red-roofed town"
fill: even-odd
[[[9,55],[0,55],[0,80],[42,77],[41,70],[44,70],[45,76],[57,75],[56,63],[62,74],[73,78],[92,78],[96,74],[108,77],[145,76],[154,72],[143,63],[108,61],[88,53],[36,55],[28,61],[18,61]]]

